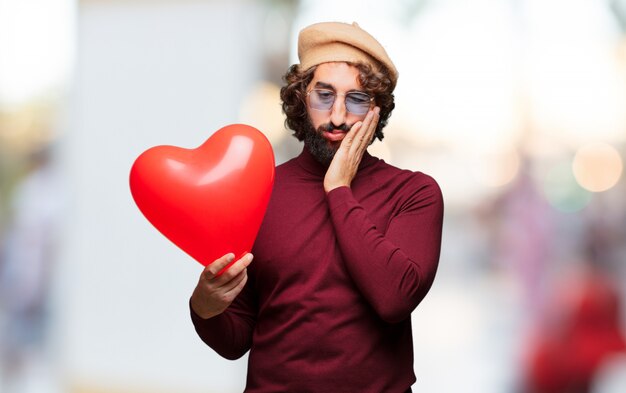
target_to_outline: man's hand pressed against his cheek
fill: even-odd
[[[326,177],[324,177],[324,190],[327,194],[338,187],[349,187],[352,183],[359,169],[363,153],[374,137],[379,113],[380,108],[374,107],[367,113],[362,122],[354,123],[341,141],[341,145],[335,153],[328,171],[326,171]]]

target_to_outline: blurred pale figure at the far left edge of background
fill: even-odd
[[[33,369],[45,360],[49,288],[61,214],[61,190],[50,146],[34,151],[31,168],[10,200],[0,247],[0,389],[34,391]]]

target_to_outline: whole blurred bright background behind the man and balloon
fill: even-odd
[[[328,20],[400,71],[371,153],[446,201],[414,391],[626,391],[626,0],[0,0],[0,392],[243,389],[128,174],[236,122],[297,155],[281,76]]]

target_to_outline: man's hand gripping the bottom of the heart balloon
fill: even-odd
[[[208,319],[223,313],[246,285],[252,254],[246,254],[222,272],[234,259],[233,254],[226,254],[207,265],[200,274],[198,285],[191,295],[191,308],[201,318]]]

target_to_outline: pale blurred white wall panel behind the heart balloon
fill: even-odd
[[[262,11],[246,1],[81,2],[55,313],[67,386],[242,390],[246,360],[219,358],[189,319],[202,266],[144,219],[128,174],[149,147],[196,147],[236,122],[260,77]]]

